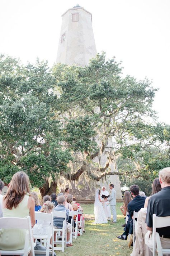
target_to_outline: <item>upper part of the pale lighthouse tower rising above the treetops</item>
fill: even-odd
[[[95,55],[92,15],[77,4],[62,15],[56,62],[84,67]]]

